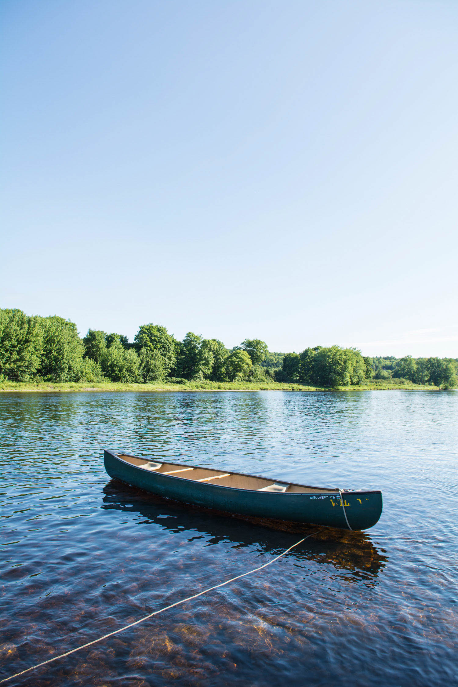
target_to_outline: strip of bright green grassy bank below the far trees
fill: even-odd
[[[193,392],[193,391],[368,391],[368,390],[403,390],[403,391],[439,391],[439,387],[410,382],[400,383],[396,379],[368,380],[366,384],[352,387],[326,389],[323,387],[308,387],[301,384],[286,384],[279,382],[249,383],[249,382],[211,382],[188,381],[184,384],[173,384],[167,381],[149,384],[122,384],[115,382],[10,382],[0,383],[0,392]]]

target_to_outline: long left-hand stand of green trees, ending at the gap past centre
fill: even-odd
[[[259,339],[228,350],[192,332],[177,341],[157,324],[142,325],[133,343],[93,329],[81,339],[76,324],[63,317],[0,310],[0,379],[10,381],[272,381],[274,372],[260,365],[267,358]]]

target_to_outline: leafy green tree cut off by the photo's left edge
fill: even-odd
[[[0,374],[7,379],[28,381],[36,374],[43,348],[39,320],[18,308],[0,310]]]

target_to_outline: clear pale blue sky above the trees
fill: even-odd
[[[458,357],[456,0],[2,0],[0,307]]]

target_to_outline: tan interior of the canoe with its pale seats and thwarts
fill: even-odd
[[[289,484],[288,482],[273,482],[268,477],[250,477],[238,473],[227,473],[222,470],[211,470],[209,468],[196,468],[190,465],[179,465],[176,463],[161,463],[148,458],[135,458],[133,455],[120,453],[118,458],[126,462],[137,465],[139,468],[150,472],[181,477],[184,480],[202,482],[203,484],[219,484],[220,486],[231,486],[236,489],[249,489],[250,491],[271,491],[276,493],[298,494],[335,494],[338,489],[327,489],[313,486],[302,486],[300,484]]]

